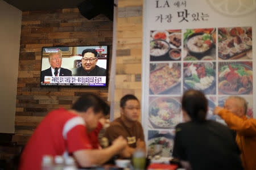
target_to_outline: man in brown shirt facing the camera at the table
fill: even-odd
[[[120,135],[126,138],[128,146],[120,154],[123,158],[130,158],[137,148],[146,151],[144,142],[144,133],[141,123],[138,121],[141,114],[141,106],[139,100],[134,95],[125,95],[120,100],[121,117],[110,123],[108,129],[105,130],[105,137],[111,143]]]

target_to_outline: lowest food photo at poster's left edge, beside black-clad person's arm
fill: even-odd
[[[149,130],[148,131],[148,156],[154,158],[159,155],[169,157],[174,147],[174,130]]]

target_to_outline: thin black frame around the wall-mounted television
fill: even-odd
[[[60,84],[42,84],[41,83],[41,77],[42,77],[42,62],[43,62],[43,49],[44,48],[69,48],[69,47],[81,47],[81,46],[85,46],[85,47],[96,47],[96,46],[106,46],[107,49],[107,53],[106,53],[106,84],[105,86],[83,86],[83,85],[74,85],[74,84],[69,84],[69,85],[60,85]],[[67,54],[64,54],[67,55]],[[109,52],[109,45],[76,45],[76,46],[67,46],[67,45],[56,45],[56,46],[43,46],[42,47],[42,51],[41,51],[41,63],[40,63],[40,87],[85,87],[85,88],[108,88],[109,86],[109,61],[110,60],[110,52]],[[75,60],[74,60],[75,61]],[[65,67],[64,67],[65,68]],[[86,76],[82,76],[82,77],[86,77]]]

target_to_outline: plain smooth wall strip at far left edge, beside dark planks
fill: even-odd
[[[14,133],[22,11],[0,0],[0,133]]]

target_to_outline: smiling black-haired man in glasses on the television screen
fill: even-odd
[[[82,66],[73,70],[73,76],[104,76],[106,69],[97,66],[98,52],[95,49],[85,49],[82,51]]]

